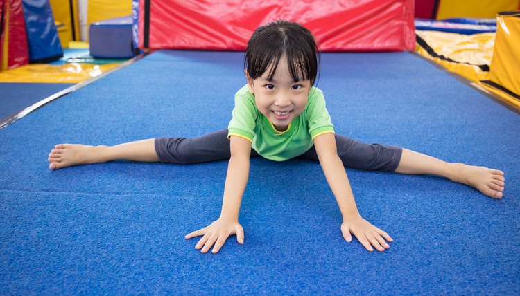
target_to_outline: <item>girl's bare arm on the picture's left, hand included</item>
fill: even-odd
[[[239,243],[244,241],[244,230],[239,224],[239,212],[245,185],[248,183],[249,158],[251,153],[251,142],[238,136],[231,136],[231,158],[227,167],[226,183],[224,187],[224,199],[222,211],[218,220],[211,225],[191,232],[185,238],[203,236],[195,246],[202,248],[205,253],[215,245],[211,252],[216,253],[222,248],[226,239],[236,234]]]

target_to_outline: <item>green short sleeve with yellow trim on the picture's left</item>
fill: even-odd
[[[227,126],[227,138],[239,136],[250,142],[254,138],[254,126],[257,118],[257,107],[254,105],[254,97],[249,91],[237,92],[235,95],[235,107],[233,117]]]

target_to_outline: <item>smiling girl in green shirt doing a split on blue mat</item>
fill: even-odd
[[[367,145],[334,133],[322,91],[313,86],[319,55],[313,35],[299,24],[276,21],[253,33],[245,53],[247,84],[235,95],[228,129],[199,138],[157,138],[114,147],[56,145],[49,167],[133,160],[165,163],[202,163],[229,159],[220,217],[187,234],[202,238],[196,249],[216,253],[236,234],[243,243],[239,210],[248,181],[251,156],[270,160],[318,160],[343,216],[341,232],[352,234],[369,251],[390,248],[392,238],[358,212],[344,167],[402,174],[433,174],[465,183],[492,198],[503,196],[503,172],[442,160],[399,147]]]

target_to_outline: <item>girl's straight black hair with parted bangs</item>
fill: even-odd
[[[314,37],[304,26],[278,19],[254,31],[245,49],[244,68],[251,79],[257,79],[269,66],[272,80],[281,57],[285,55],[294,82],[318,77],[320,52]]]

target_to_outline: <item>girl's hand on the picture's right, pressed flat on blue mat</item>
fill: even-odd
[[[383,252],[385,249],[390,248],[386,241],[390,241],[390,243],[394,241],[388,233],[376,228],[361,216],[343,219],[341,232],[343,233],[343,238],[348,242],[352,241],[351,234],[354,234],[358,241],[370,252],[372,252],[374,248],[379,252]],[[372,248],[372,246],[374,246],[374,248]]]

